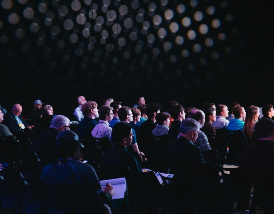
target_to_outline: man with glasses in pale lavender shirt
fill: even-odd
[[[110,142],[111,140],[111,132],[112,128],[109,127],[109,121],[113,118],[113,108],[110,106],[101,106],[99,108],[99,122],[91,131],[91,135],[94,138],[104,138],[107,137]]]

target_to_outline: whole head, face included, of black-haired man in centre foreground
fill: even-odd
[[[129,123],[119,122],[113,126],[112,138],[114,143],[127,147],[130,146],[132,137],[132,127]]]

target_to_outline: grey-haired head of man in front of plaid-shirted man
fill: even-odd
[[[195,142],[197,140],[201,127],[201,124],[198,123],[197,120],[194,120],[192,118],[186,118],[182,121],[180,125],[181,136],[184,136],[191,142]]]

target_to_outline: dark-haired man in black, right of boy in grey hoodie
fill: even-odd
[[[174,118],[169,131],[168,136],[170,140],[176,140],[180,133],[180,125],[184,119],[186,119],[186,113],[182,105],[174,105],[170,108],[170,115]]]

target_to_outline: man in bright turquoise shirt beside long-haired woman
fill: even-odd
[[[237,106],[233,109],[233,115],[234,119],[229,121],[229,124],[227,126],[227,130],[235,131],[235,130],[241,130],[243,131],[244,122],[243,119],[245,119],[246,111],[242,106]]]

